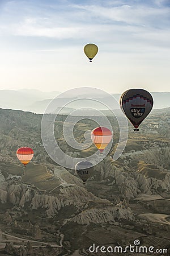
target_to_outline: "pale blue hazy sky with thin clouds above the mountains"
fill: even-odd
[[[169,91],[169,42],[169,0],[0,0],[0,89]]]

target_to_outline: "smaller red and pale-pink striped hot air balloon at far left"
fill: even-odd
[[[16,151],[16,156],[24,164],[24,167],[31,161],[33,158],[33,150],[30,147],[20,147]]]

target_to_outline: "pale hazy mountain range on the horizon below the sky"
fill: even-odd
[[[22,90],[0,90],[0,108],[3,109],[16,109],[30,111],[34,113],[44,113],[46,107],[49,105],[50,101],[58,96],[60,92],[41,92],[36,89],[22,89]],[[152,97],[154,98],[154,109],[168,108],[170,106],[170,92],[151,92]],[[117,101],[119,101],[121,94],[112,94]],[[71,104],[62,109],[62,114],[67,114],[73,112],[75,109],[79,108],[94,108],[108,111],[106,108],[96,105],[96,102],[90,102],[89,100],[79,100],[80,98],[90,97],[88,94],[70,95],[69,101],[72,101]],[[107,98],[102,98],[101,95],[96,95],[95,100],[100,102],[109,102]],[[59,109],[63,107],[68,101],[68,98],[61,97],[53,101],[52,108],[49,109],[49,112],[58,112]],[[112,102],[113,109],[118,109],[118,104]],[[87,111],[90,109],[87,109]],[[94,114],[96,113],[95,110]],[[86,112],[86,110],[81,110],[81,112]]]

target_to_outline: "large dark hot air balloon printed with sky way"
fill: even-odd
[[[134,126],[134,131],[151,112],[154,100],[149,92],[144,89],[129,89],[120,98],[120,106],[126,117]]]

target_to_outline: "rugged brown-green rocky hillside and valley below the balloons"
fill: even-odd
[[[74,170],[57,166],[46,154],[41,117],[0,109],[0,254],[91,255],[88,247],[94,242],[124,246],[136,239],[142,245],[151,246],[154,241],[168,248],[169,110],[153,112],[139,133],[129,126],[128,143],[116,162],[112,156],[118,126],[110,117],[113,146],[94,167],[86,185]],[[86,152],[66,144],[62,135],[65,118],[60,116],[55,123],[62,150],[76,157],[94,152],[94,146]],[[79,122],[75,138],[82,142],[84,131],[93,127],[86,119]],[[15,155],[20,146],[35,151],[25,172]]]

